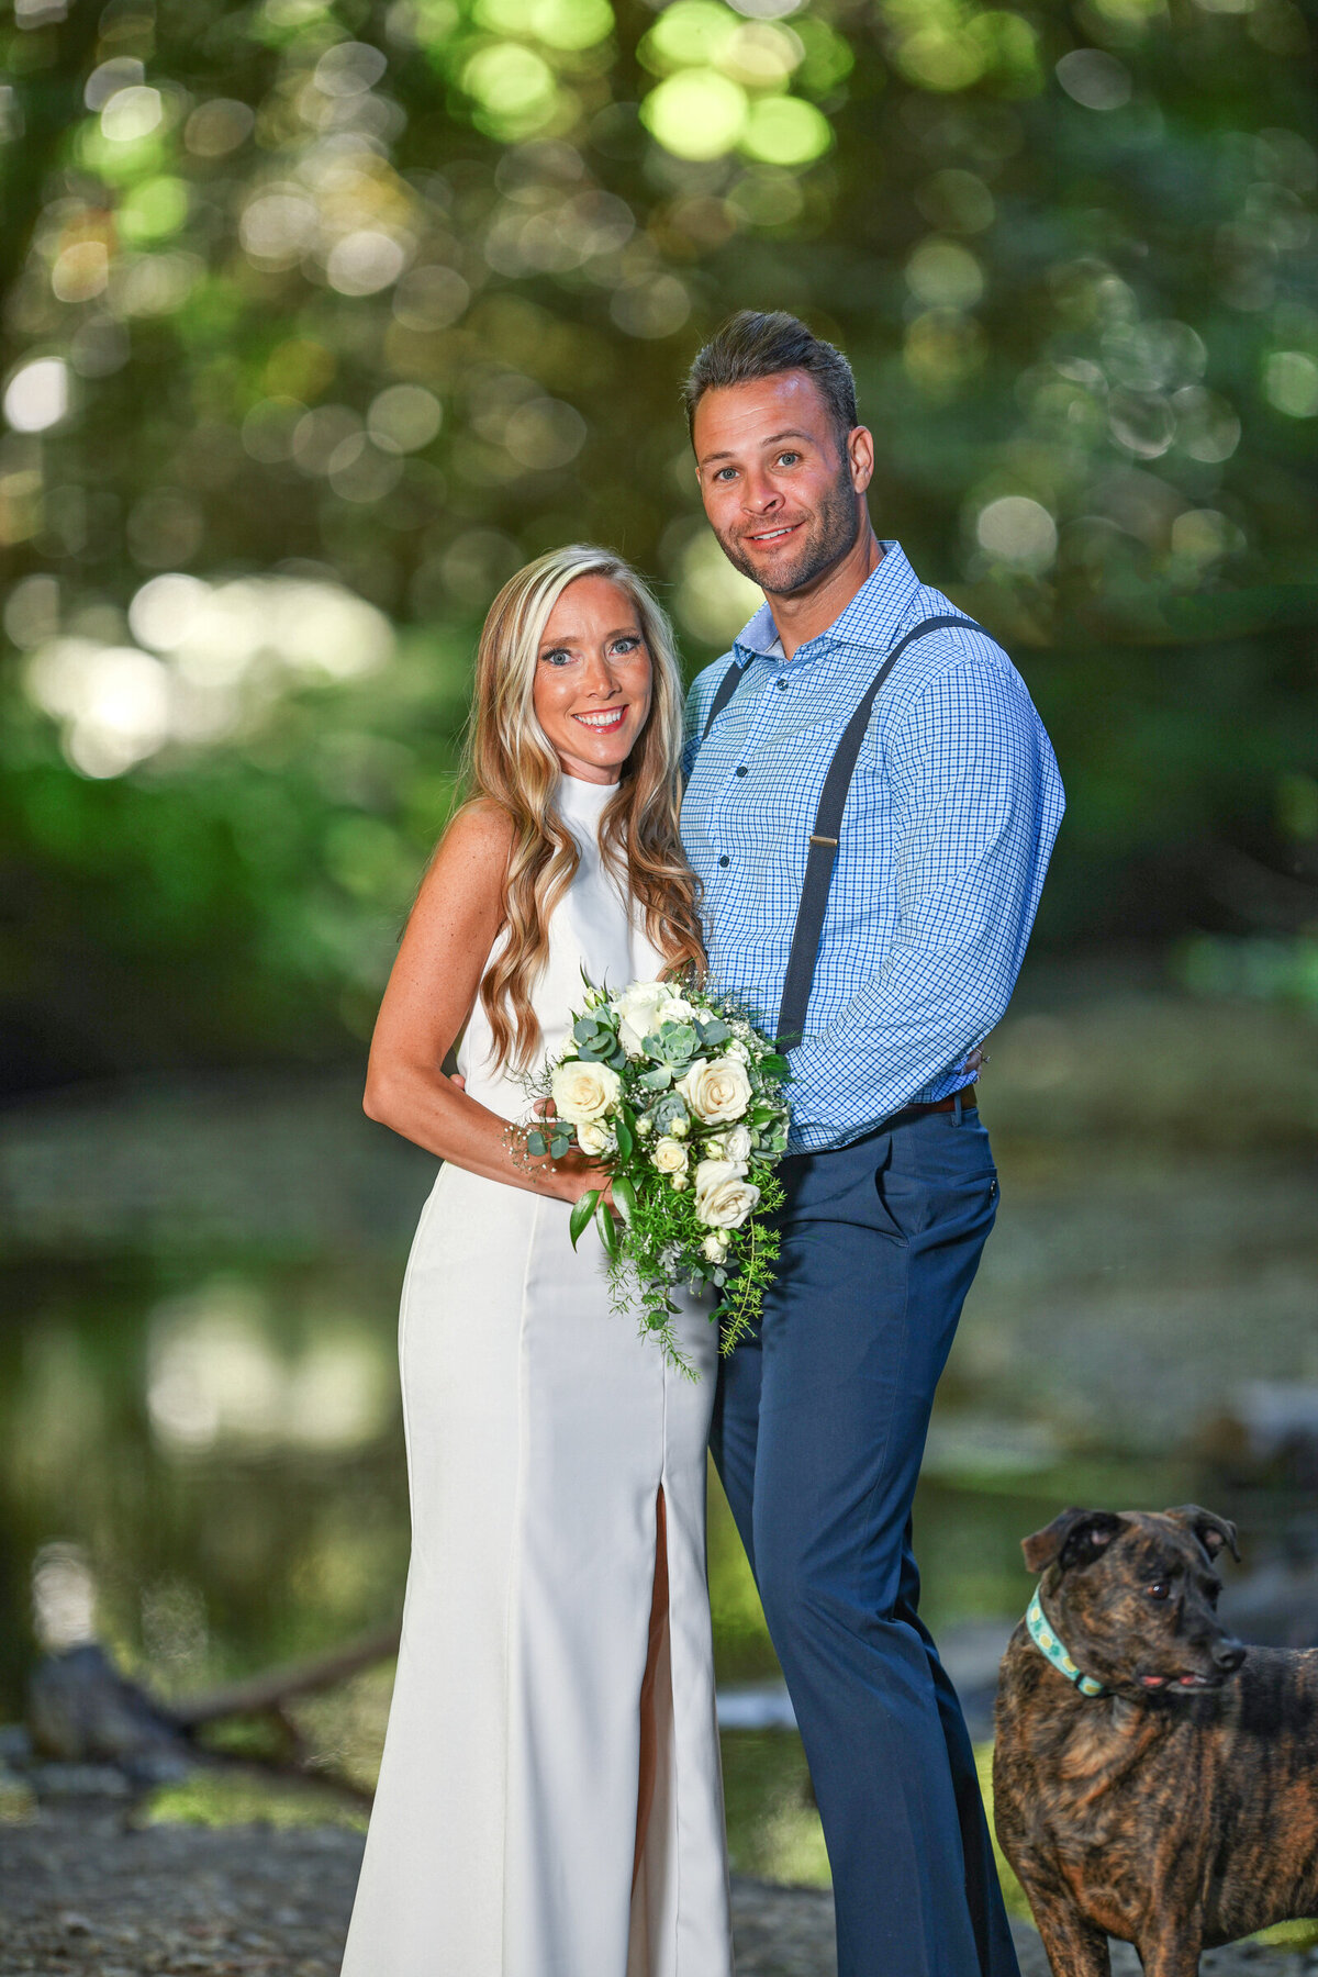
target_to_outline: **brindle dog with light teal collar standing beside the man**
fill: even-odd
[[[1231,1639],[1215,1560],[1235,1524],[1063,1510],[1024,1540],[1087,1696],[1016,1629],[1002,1661],[994,1813],[1055,1977],[1146,1977],[1318,1916],[1318,1651]]]

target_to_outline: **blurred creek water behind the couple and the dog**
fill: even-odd
[[[1286,1455],[1294,1406],[1302,1425],[1318,1394],[1314,1111],[1294,1075],[1255,1077],[1249,1119],[1221,1119],[1241,1050],[1294,1068],[1312,1024],[1251,1020],[1282,1030],[1243,1046],[1243,1018],[1213,1006],[1114,1020],[1103,1004],[1026,1010],[994,1044],[1004,1210],[917,1501],[925,1607],[980,1736],[1030,1591],[1020,1538],[1065,1503],[1207,1501],[1243,1518],[1255,1562],[1318,1526],[1318,1475]],[[20,1238],[0,1259],[0,1720],[22,1712],[34,1623],[51,1645],[95,1627],[182,1696],[397,1617],[395,1311],[431,1170],[338,1083],[0,1117]],[[1278,1396],[1298,1400],[1278,1416]],[[711,1595],[735,1864],[824,1880],[717,1487]],[[362,1783],[387,1692],[381,1667],[298,1706],[312,1748]],[[174,1811],[233,1817],[207,1789]]]

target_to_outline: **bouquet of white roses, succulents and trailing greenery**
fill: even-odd
[[[611,1180],[571,1214],[573,1247],[595,1222],[615,1307],[640,1305],[642,1331],[686,1366],[672,1331],[680,1283],[717,1291],[711,1319],[733,1348],[759,1315],[783,1202],[773,1168],[786,1151],[786,1060],[725,996],[692,983],[587,983],[571,1042],[534,1095],[549,1117],[526,1133],[532,1155],[579,1147]]]

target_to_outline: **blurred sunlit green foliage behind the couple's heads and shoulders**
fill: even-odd
[[[1041,935],[1312,925],[1290,0],[16,0],[0,69],[0,1075],[368,1032],[500,579],[747,615],[678,411],[741,304],[846,346],[879,530],[1028,674]]]

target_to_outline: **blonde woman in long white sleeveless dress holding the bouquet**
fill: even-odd
[[[445,1162],[403,1283],[413,1556],[344,1977],[731,1977],[705,1591],[715,1334],[674,1372],[516,1147],[581,973],[703,961],[672,635],[605,550],[504,585],[472,797],[407,923],[366,1111]],[[464,1089],[441,1064],[458,1040]],[[512,1143],[510,1143],[512,1141]]]

